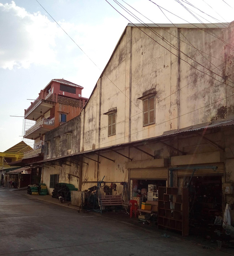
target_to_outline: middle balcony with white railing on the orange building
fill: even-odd
[[[54,120],[44,119],[40,120],[34,126],[26,130],[24,138],[35,139],[45,132],[48,132],[54,128]]]

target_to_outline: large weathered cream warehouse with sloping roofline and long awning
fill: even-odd
[[[129,198],[190,183],[194,214],[222,211],[233,200],[233,41],[234,22],[128,24],[80,115],[45,134],[43,182],[85,190],[105,177],[119,192],[127,182]]]

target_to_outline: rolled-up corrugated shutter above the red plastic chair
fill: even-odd
[[[130,169],[130,179],[167,180],[167,168]]]

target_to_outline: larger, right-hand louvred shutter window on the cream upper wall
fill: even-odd
[[[155,96],[143,100],[143,126],[155,123]]]

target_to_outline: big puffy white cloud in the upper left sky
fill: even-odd
[[[55,22],[40,12],[0,3],[0,68],[29,68],[31,64],[56,62],[56,37],[61,35]]]

